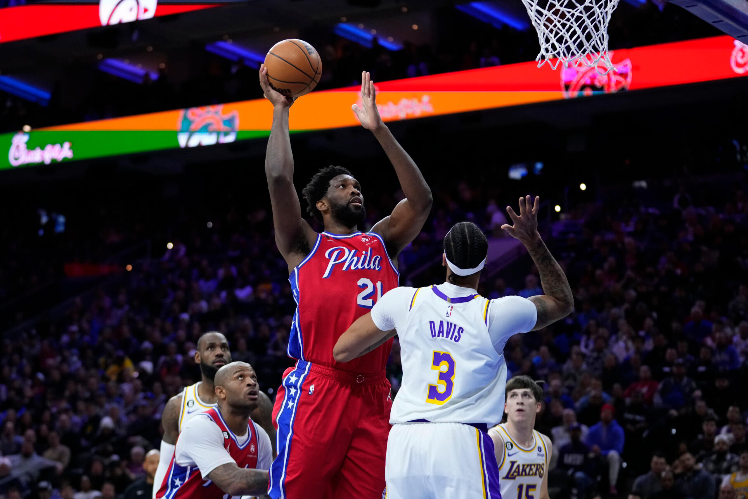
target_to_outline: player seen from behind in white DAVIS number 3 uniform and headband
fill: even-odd
[[[574,307],[568,281],[537,230],[539,198],[534,206],[530,196],[520,198],[519,206],[520,215],[507,207],[514,225],[503,229],[530,251],[546,296],[479,296],[488,241],[476,224],[460,222],[444,237],[444,284],[390,291],[334,347],[337,361],[350,361],[391,337],[393,328],[399,335],[402,386],[387,443],[389,499],[502,497],[487,429],[503,416],[496,408],[504,404],[504,346]]]

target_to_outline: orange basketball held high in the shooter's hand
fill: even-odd
[[[286,97],[301,97],[313,91],[322,76],[319,53],[304,40],[276,43],[265,56],[268,81]]]

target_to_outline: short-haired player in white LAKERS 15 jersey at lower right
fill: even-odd
[[[501,497],[548,499],[548,462],[551,438],[537,432],[543,389],[530,376],[515,376],[506,383],[506,423],[488,430],[499,466]]]

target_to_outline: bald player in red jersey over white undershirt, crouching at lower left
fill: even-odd
[[[215,373],[214,383],[218,401],[180,433],[158,499],[224,499],[268,490],[272,446],[250,417],[260,403],[257,374],[246,362],[232,362]]]

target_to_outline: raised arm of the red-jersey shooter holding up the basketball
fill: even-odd
[[[301,203],[293,185],[293,154],[289,137],[289,108],[291,97],[273,90],[268,82],[268,70],[260,67],[260,86],[273,105],[273,124],[265,156],[265,174],[268,177],[270,203],[275,225],[275,244],[292,269],[304,259],[316,238],[307,221],[301,217]]]

